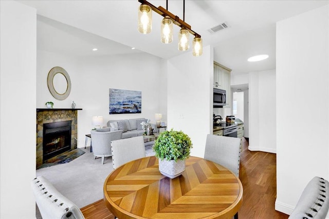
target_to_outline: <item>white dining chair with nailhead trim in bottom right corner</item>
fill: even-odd
[[[314,177],[305,187],[290,219],[327,218],[329,209],[329,182],[318,176]]]

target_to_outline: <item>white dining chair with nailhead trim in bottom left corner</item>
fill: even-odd
[[[45,177],[34,178],[31,186],[43,219],[84,218],[80,209],[54,188]]]

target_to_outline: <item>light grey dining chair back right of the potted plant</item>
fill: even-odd
[[[238,137],[208,134],[205,159],[220,164],[239,176],[240,143],[241,139]]]

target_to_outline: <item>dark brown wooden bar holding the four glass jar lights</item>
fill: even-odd
[[[174,22],[175,25],[179,26],[180,28],[187,29],[195,37],[198,37],[198,38],[201,37],[200,34],[198,34],[197,32],[195,32],[195,31],[193,31],[191,29],[191,25],[189,25],[185,21],[182,21],[177,15],[172,14],[171,12],[169,12],[168,10],[166,10],[165,8],[162,8],[161,6],[155,7],[154,5],[152,5],[151,3],[149,3],[146,0],[138,0],[138,2],[140,2],[142,5],[148,5],[148,6],[150,6],[153,11],[155,11],[156,13],[160,14],[163,17],[169,16],[170,19],[172,19],[172,21]]]

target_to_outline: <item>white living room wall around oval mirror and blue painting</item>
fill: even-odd
[[[63,67],[70,75],[71,93],[63,101],[52,97],[47,87],[47,75],[54,66]],[[52,101],[54,108],[70,108],[74,101],[76,108],[82,108],[78,111],[78,147],[84,147],[95,115],[103,116],[104,126],[108,120],[121,118],[145,117],[155,123],[155,113],[162,113],[162,122],[166,122],[164,66],[161,58],[147,53],[79,58],[38,50],[36,107],[44,108]],[[109,114],[109,88],[141,91],[142,113]]]

